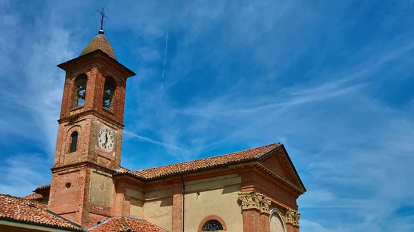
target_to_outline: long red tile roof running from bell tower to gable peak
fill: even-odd
[[[163,176],[171,176],[174,174],[184,173],[188,171],[197,171],[201,169],[208,169],[218,167],[221,165],[227,165],[235,162],[253,160],[255,158],[259,158],[259,156],[262,156],[263,154],[266,154],[268,151],[274,149],[275,147],[278,147],[279,145],[280,143],[273,143],[263,147],[256,147],[244,151],[237,151],[226,155],[202,158],[199,160],[193,160],[188,162],[180,162],[174,165],[165,165],[161,167],[154,167],[139,171],[130,171],[128,169],[120,167],[117,170],[117,173],[128,173],[132,176],[136,176],[144,180],[151,180]]]

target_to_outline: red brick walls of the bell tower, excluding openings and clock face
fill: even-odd
[[[126,78],[130,73],[119,63],[99,53],[68,61],[63,69],[66,70],[66,80],[49,204],[50,210],[86,228],[98,221],[102,222],[113,213],[124,213],[126,209],[124,205],[121,209],[117,206],[123,200],[119,192],[114,194],[116,210],[91,204],[90,178],[92,170],[112,173],[110,169],[119,167],[121,163]],[[75,78],[79,74],[87,76],[86,98],[83,106],[76,107]],[[114,78],[117,83],[110,110],[102,107],[106,76]],[[102,125],[107,125],[114,131],[113,151],[102,151],[97,145],[97,131]],[[77,151],[70,153],[70,136],[73,131],[78,132]],[[70,183],[69,188],[65,186],[67,183]]]

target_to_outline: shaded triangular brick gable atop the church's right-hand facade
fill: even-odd
[[[300,180],[299,175],[293,166],[292,160],[288,156],[288,152],[284,148],[284,145],[275,147],[272,151],[267,152],[262,157],[259,157],[259,163],[264,165],[270,171],[273,171],[280,177],[288,180],[292,184],[295,184],[296,187],[306,191],[302,180]]]

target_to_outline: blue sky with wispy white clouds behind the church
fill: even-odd
[[[56,65],[97,35],[102,6],[137,73],[122,166],[279,141],[308,189],[301,231],[414,231],[411,0],[0,0],[0,192],[50,182]]]

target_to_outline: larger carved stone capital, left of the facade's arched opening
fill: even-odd
[[[242,202],[242,210],[259,209],[261,213],[269,213],[270,200],[257,191],[239,193],[239,200]]]

